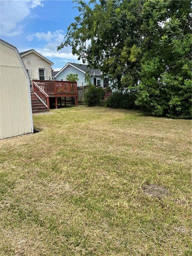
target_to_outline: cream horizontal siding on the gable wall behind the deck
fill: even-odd
[[[31,52],[23,57],[21,57],[26,69],[31,70],[31,79],[39,79],[38,78],[38,69],[39,68],[45,68],[46,69],[46,77],[45,80],[52,79],[51,75],[51,64],[47,62],[46,60],[39,57],[34,52]],[[30,62],[27,62],[29,60]]]

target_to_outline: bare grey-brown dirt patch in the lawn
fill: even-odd
[[[166,188],[155,184],[144,187],[143,191],[145,194],[156,196],[157,198],[162,198],[169,194],[169,191]]]

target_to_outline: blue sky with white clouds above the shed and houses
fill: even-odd
[[[56,51],[67,27],[79,15],[72,1],[0,1],[0,38],[19,52],[35,49],[54,62],[55,71],[77,62],[70,47]]]

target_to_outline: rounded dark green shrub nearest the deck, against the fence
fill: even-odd
[[[88,89],[84,93],[84,103],[88,106],[98,106],[101,104],[101,100],[105,96],[105,90],[101,87],[95,87],[89,85]]]

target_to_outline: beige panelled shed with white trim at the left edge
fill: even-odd
[[[0,39],[0,139],[33,133],[29,75],[16,47]]]

